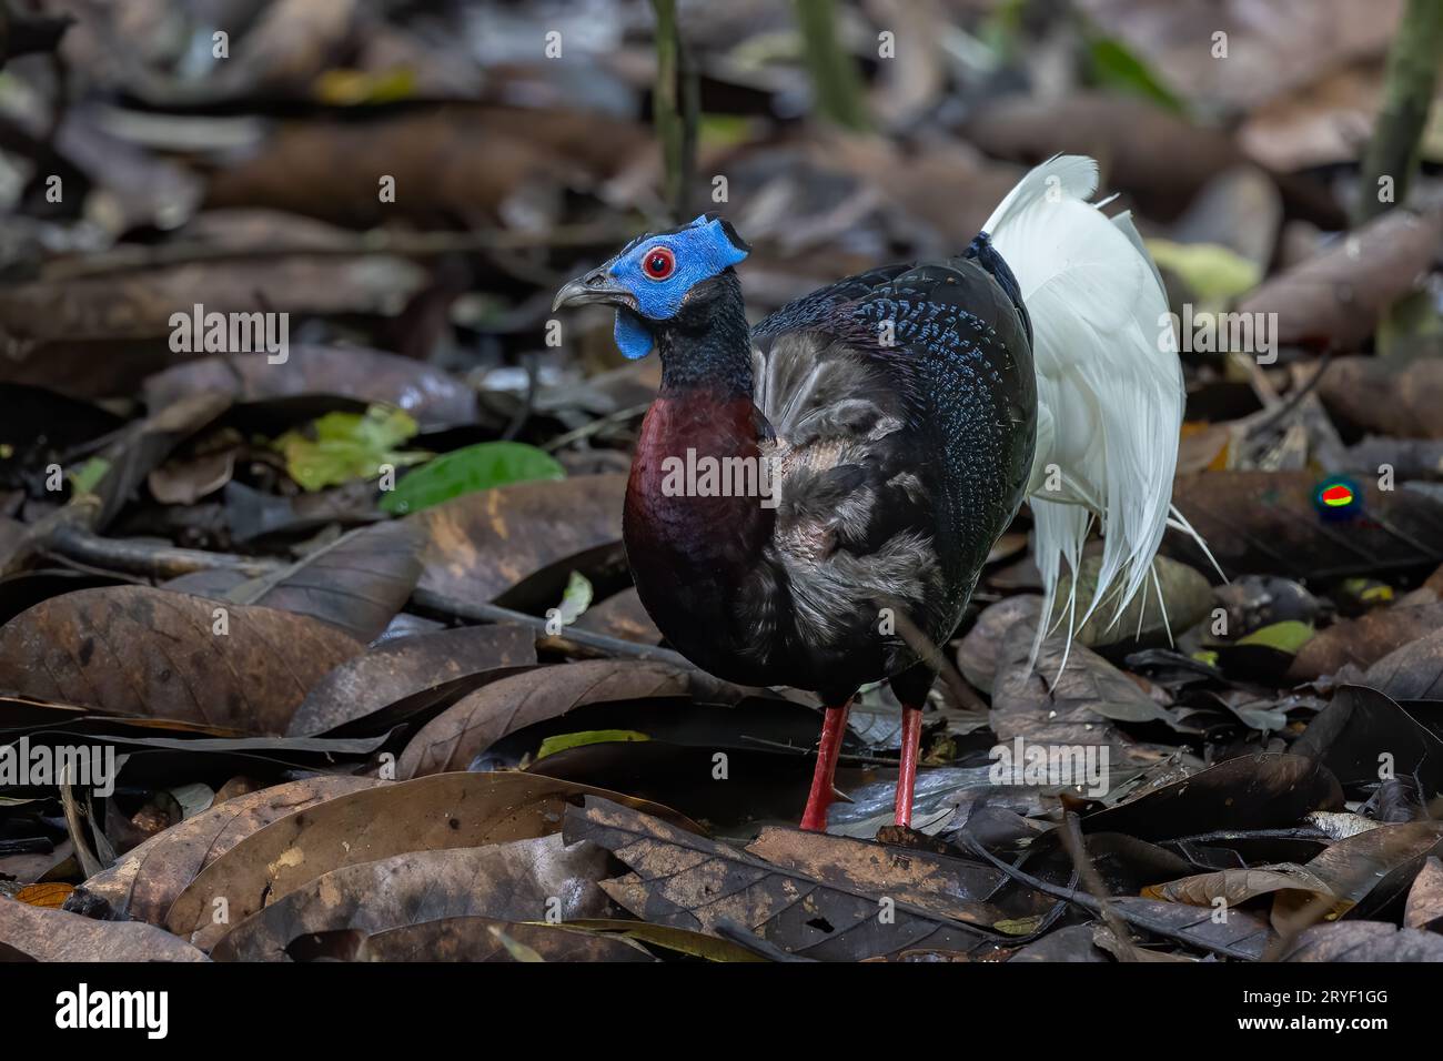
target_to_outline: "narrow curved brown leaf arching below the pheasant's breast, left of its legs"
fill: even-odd
[[[697,671],[646,660],[583,660],[514,674],[482,686],[426,723],[401,752],[397,777],[466,769],[506,733],[584,704],[700,697],[714,684]]]

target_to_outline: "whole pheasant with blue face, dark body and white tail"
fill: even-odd
[[[749,323],[750,245],[716,214],[628,243],[553,312],[602,305],[626,358],[661,358],[622,511],[636,592],[693,664],[818,694],[804,830],[824,831],[864,686],[902,704],[893,820],[911,827],[935,645],[1026,501],[1043,635],[1162,592],[1183,377],[1162,277],[1097,162],[1055,156],[949,258],[872,268]],[[1102,559],[1082,608],[1076,572]],[[1201,538],[1198,538],[1201,544]],[[1065,569],[1065,570],[1063,570]],[[1065,664],[1063,664],[1065,665]]]

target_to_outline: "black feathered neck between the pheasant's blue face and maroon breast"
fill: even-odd
[[[710,390],[720,398],[750,397],[752,336],[736,271],[703,281],[677,316],[655,331],[661,391]]]

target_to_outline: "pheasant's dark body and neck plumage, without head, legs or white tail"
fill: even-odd
[[[915,703],[932,673],[903,635],[951,637],[1032,468],[1036,380],[1016,283],[978,237],[958,258],[814,292],[747,339],[734,276],[714,280],[657,332],[662,391],[625,518],[642,601],[723,677],[828,702],[892,677]],[[661,497],[658,460],[693,445],[768,458],[775,511]]]

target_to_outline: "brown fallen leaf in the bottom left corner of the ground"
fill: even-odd
[[[35,961],[206,961],[170,933],[130,921],[91,921],[0,896],[0,951]]]

